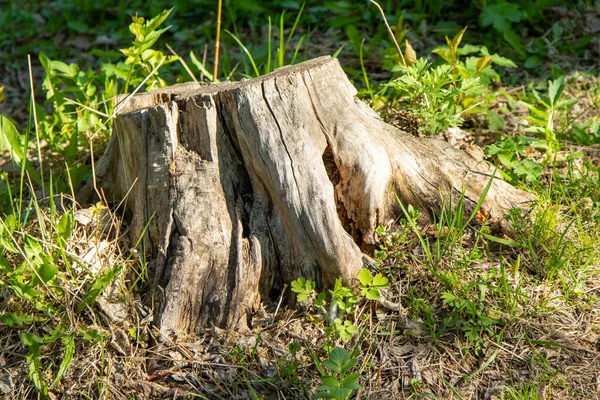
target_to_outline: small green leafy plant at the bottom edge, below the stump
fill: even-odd
[[[362,389],[358,384],[360,374],[348,373],[357,362],[356,358],[341,347],[331,350],[327,360],[323,361],[323,366],[331,371],[331,375],[321,375],[322,385],[315,398],[346,400],[353,391]]]

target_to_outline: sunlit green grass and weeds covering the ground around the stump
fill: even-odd
[[[251,332],[214,328],[194,338],[156,331],[140,300],[147,260],[122,235],[118,205],[83,209],[75,198],[112,132],[114,96],[190,79],[189,67],[167,56],[163,43],[184,57],[193,51],[192,73],[214,77],[204,44],[216,9],[207,8],[199,24],[187,2],[173,2],[173,12],[156,2],[143,13],[155,18],[131,20],[142,3],[15,2],[0,11],[0,20],[26,26],[0,34],[14,57],[3,71],[28,77],[36,91],[16,105],[23,100],[19,79],[0,83],[0,112],[11,112],[0,116],[2,395],[598,398],[600,89],[585,53],[592,39],[581,27],[565,33],[569,18],[593,14],[591,3],[566,8],[567,18],[521,1],[512,8],[472,2],[463,13],[421,1],[395,15],[382,2],[404,53],[410,45],[427,57],[406,57],[409,65],[401,66],[379,11],[367,2],[224,2],[229,34],[218,77],[260,75],[336,52],[384,117],[401,112],[401,119],[416,118],[415,134],[440,133],[479,149],[537,200],[528,212],[510,213],[510,234],[501,237],[485,224],[465,223],[477,209],[466,215],[460,198],[454,212],[445,209],[427,225],[401,205],[396,221],[378,227],[377,265],[355,291],[340,285],[319,298],[298,283],[290,290],[307,305],[265,304]],[[276,15],[267,16],[271,6]],[[96,21],[98,10],[106,18]],[[46,25],[34,23],[40,18]],[[459,33],[467,23],[472,27]],[[107,32],[114,32],[111,44],[85,57],[48,40],[64,34],[89,41]],[[504,42],[492,40],[500,36]],[[39,63],[26,68],[29,52],[40,54]],[[452,136],[457,131],[448,127],[461,123]]]

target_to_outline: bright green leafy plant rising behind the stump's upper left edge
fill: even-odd
[[[159,29],[159,26],[171,11],[165,10],[149,21],[133,16],[129,30],[135,40],[129,48],[121,49],[125,61],[102,64],[102,73],[91,68],[81,70],[75,63],[51,60],[40,53],[40,63],[45,71],[42,87],[46,90],[46,102],[54,108],[53,113],[46,113],[36,106],[40,139],[71,160],[81,148],[88,147],[88,141],[97,133],[105,140],[110,137],[112,122],[109,117],[113,114],[113,100],[117,94],[128,93],[131,85],[142,82],[146,82],[147,90],[166,86],[158,69],[178,58],[166,56],[151,47],[169,29]],[[124,82],[121,88],[120,81]],[[87,172],[83,171],[84,174]]]

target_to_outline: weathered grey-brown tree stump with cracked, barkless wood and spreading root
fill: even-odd
[[[368,260],[361,246],[399,215],[396,195],[426,215],[463,193],[465,214],[474,209],[493,168],[387,125],[355,94],[322,57],[122,107],[97,187],[125,198],[133,238],[147,226],[162,330],[244,326],[261,298],[300,276],[351,284]],[[496,177],[477,219],[529,200]]]

